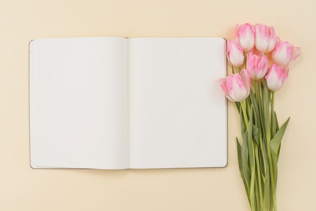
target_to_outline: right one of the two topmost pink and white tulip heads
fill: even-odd
[[[255,25],[254,45],[260,52],[270,52],[276,45],[276,34],[273,26]]]

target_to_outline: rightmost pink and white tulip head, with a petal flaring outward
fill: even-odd
[[[272,52],[272,60],[277,65],[288,66],[301,54],[300,47],[294,47],[287,41],[281,41],[279,37],[277,37],[276,42],[276,47]]]

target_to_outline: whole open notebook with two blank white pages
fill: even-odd
[[[223,38],[30,42],[32,168],[225,167]]]

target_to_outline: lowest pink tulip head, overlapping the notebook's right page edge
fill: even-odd
[[[220,78],[220,85],[228,99],[241,102],[250,93],[250,76],[245,69],[242,69],[240,73]]]

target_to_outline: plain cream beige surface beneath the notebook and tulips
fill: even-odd
[[[239,119],[228,106],[224,169],[33,170],[29,166],[28,43],[39,37],[221,36],[236,23],[273,25],[302,47],[276,93],[291,116],[279,162],[279,211],[316,210],[316,1],[0,2],[0,210],[250,210],[239,175]],[[230,70],[230,67],[228,67]]]

